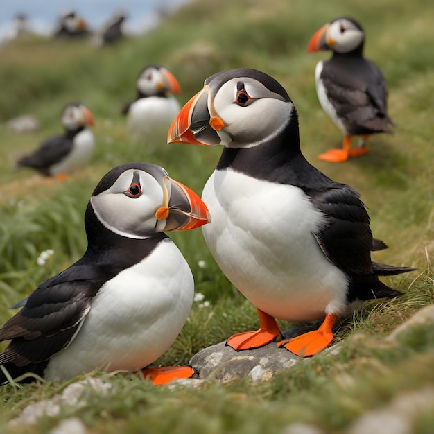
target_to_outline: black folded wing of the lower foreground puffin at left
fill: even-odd
[[[0,354],[0,364],[40,363],[66,347],[103,284],[101,275],[93,266],[71,266],[38,286],[26,297],[23,309],[0,329],[0,340],[11,340]]]

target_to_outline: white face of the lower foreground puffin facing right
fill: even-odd
[[[146,238],[146,232],[164,229],[166,220],[155,217],[163,202],[162,186],[155,177],[139,169],[123,172],[110,189],[91,198],[98,220],[115,234],[128,238]]]

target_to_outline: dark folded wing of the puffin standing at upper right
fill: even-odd
[[[353,134],[390,132],[388,88],[374,62],[363,58],[333,58],[324,62],[321,78],[329,101]]]

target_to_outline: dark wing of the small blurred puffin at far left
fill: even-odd
[[[17,161],[17,167],[35,168],[49,175],[48,168],[68,155],[73,148],[73,141],[64,136],[51,137],[44,141],[35,152],[24,155]]]

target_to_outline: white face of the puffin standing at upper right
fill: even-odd
[[[363,41],[363,32],[347,19],[334,21],[327,29],[327,44],[336,53],[349,53]]]

